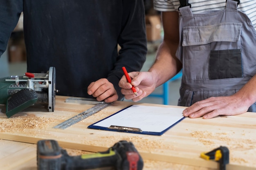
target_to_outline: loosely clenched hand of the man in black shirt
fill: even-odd
[[[105,78],[92,82],[88,86],[87,93],[88,95],[96,97],[98,101],[104,100],[106,103],[115,102],[118,99],[117,91],[113,84]]]

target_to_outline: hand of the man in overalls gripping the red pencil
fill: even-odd
[[[155,90],[153,76],[150,72],[137,71],[128,74],[132,79],[131,84],[127,82],[125,76],[120,79],[118,84],[121,87],[121,93],[126,99],[132,99],[133,102],[137,102]],[[132,85],[137,91],[137,96],[132,92]]]

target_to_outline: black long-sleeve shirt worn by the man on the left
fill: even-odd
[[[107,78],[121,99],[121,67],[146,60],[143,0],[1,0],[0,55],[22,11],[27,71],[54,66],[58,95],[92,97],[88,85]]]

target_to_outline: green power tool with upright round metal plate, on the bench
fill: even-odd
[[[0,78],[0,104],[6,104],[8,118],[35,103],[48,104],[53,112],[56,92],[55,67],[47,73]]]

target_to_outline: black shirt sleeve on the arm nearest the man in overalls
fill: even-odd
[[[113,83],[119,97],[121,88],[118,82],[124,75],[122,67],[128,72],[140,71],[146,61],[147,40],[145,27],[144,4],[142,0],[125,0],[122,15],[121,33],[117,43],[121,46],[108,80]]]

